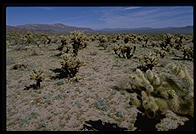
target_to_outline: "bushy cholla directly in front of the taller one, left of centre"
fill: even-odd
[[[72,54],[64,54],[62,56],[62,70],[68,75],[68,77],[75,77],[76,73],[79,71],[79,68],[84,65],[78,57],[74,57]]]

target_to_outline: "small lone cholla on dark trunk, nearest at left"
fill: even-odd
[[[35,88],[39,89],[40,83],[45,79],[45,76],[43,74],[43,71],[38,68],[33,70],[32,74],[30,75],[30,79],[36,81]]]

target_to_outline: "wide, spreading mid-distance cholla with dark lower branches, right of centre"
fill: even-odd
[[[128,43],[114,44],[113,51],[119,57],[130,59],[135,53],[136,46]]]

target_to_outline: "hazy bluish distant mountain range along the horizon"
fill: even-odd
[[[150,28],[150,27],[141,27],[141,28],[107,28],[101,30],[93,30],[91,28],[82,28],[75,26],[68,26],[64,24],[26,24],[18,26],[6,26],[6,31],[15,31],[15,32],[48,32],[48,33],[69,33],[71,31],[83,31],[87,33],[184,33],[184,34],[193,34],[193,26],[185,27],[166,27],[166,28]]]

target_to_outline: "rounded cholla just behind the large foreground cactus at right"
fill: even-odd
[[[138,67],[142,71],[152,70],[154,66],[159,64],[159,58],[154,53],[145,54],[139,58],[141,65]]]

